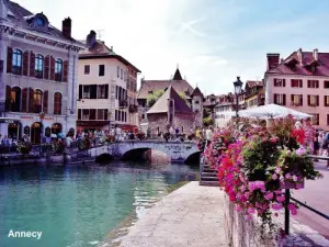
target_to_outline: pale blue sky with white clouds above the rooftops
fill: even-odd
[[[266,53],[329,52],[328,0],[15,1],[58,29],[70,16],[77,40],[95,30],[139,79],[170,79],[179,66],[206,94],[232,91],[237,76],[262,79]]]

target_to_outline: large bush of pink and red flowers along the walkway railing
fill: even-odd
[[[218,148],[218,142],[226,143],[227,148]],[[258,215],[270,228],[273,226],[272,212],[277,216],[275,211],[285,206],[282,182],[288,180],[300,189],[300,178],[321,177],[307,154],[303,130],[294,127],[291,116],[272,120],[269,127],[249,126],[239,135],[222,130],[204,151],[206,161],[217,169],[220,187],[237,210],[248,220]],[[287,206],[292,214],[297,213],[295,203],[290,202]]]

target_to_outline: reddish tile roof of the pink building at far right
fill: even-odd
[[[295,69],[292,70],[288,63],[298,61],[295,65]],[[287,58],[280,61],[280,64],[266,71],[266,74],[286,74],[286,75],[303,75],[303,76],[329,76],[329,53],[318,53],[319,66],[313,72],[311,69],[307,68],[307,65],[311,65],[315,61],[314,52],[302,52],[300,65],[297,52],[292,53]]]

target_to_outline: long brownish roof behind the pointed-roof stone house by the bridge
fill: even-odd
[[[185,80],[141,80],[137,99],[147,99],[150,91],[164,90],[170,86],[172,86],[178,93],[184,92],[186,98],[189,98],[194,90]]]

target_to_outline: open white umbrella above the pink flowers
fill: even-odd
[[[311,117],[304,112],[298,112],[293,109],[284,108],[277,104],[266,104],[263,106],[243,110],[239,112],[240,116],[257,117],[257,119],[281,119],[292,115],[295,119],[303,120]]]

